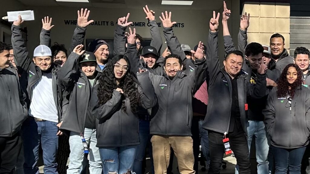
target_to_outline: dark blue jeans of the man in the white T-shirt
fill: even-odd
[[[39,158],[40,141],[43,150],[43,162],[45,174],[57,174],[56,154],[58,148],[58,127],[56,122],[35,121],[29,117],[23,123],[24,142],[24,173],[38,174],[37,166]]]

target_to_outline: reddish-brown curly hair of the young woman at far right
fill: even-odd
[[[294,67],[297,71],[297,79],[292,84],[289,84],[289,82],[286,79],[286,73],[289,67]],[[297,89],[297,87],[301,86],[302,83],[303,83],[303,72],[301,71],[301,69],[296,64],[293,63],[288,64],[282,71],[281,76],[279,77],[277,83],[278,84],[277,96],[285,97],[287,94],[289,94],[291,98],[294,98],[295,90]],[[289,86],[291,87],[290,90]]]

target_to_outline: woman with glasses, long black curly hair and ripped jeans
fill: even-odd
[[[137,80],[138,79],[138,80]],[[149,109],[157,98],[148,72],[131,72],[126,56],[115,56],[105,67],[91,97],[97,124],[97,147],[103,173],[132,171],[139,139],[138,107]]]

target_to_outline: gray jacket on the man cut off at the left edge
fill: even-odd
[[[18,74],[10,67],[0,68],[0,98],[0,137],[12,137],[28,117],[28,110]]]

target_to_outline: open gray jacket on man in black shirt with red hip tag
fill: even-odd
[[[207,74],[209,76],[209,101],[206,118],[202,127],[219,133],[228,133],[232,107],[232,84],[224,67],[220,68],[218,54],[218,32],[209,32],[207,44]],[[247,96],[262,98],[266,94],[266,74],[257,74],[256,84],[250,84],[241,70],[237,78],[240,119],[244,132],[246,129]]]

